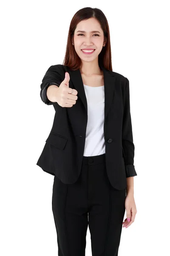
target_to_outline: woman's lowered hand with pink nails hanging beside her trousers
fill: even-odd
[[[133,194],[129,194],[126,196],[125,208],[126,208],[127,218],[125,218],[125,221],[122,222],[122,225],[124,224],[123,227],[127,228],[134,222],[136,212],[137,212]]]

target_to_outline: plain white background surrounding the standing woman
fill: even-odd
[[[1,4],[2,256],[57,255],[51,206],[54,176],[36,165],[54,119],[54,107],[40,99],[40,84],[51,65],[63,63],[71,19],[88,6],[101,9],[107,17],[113,71],[130,81],[138,212],[134,223],[122,228],[119,256],[170,255],[167,4],[165,0],[15,0]],[[89,229],[86,241],[86,255],[91,256]]]

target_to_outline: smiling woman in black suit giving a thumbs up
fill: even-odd
[[[108,22],[97,8],[72,18],[63,65],[49,67],[40,96],[54,105],[37,162],[54,175],[52,210],[59,256],[117,256],[136,215],[129,81],[112,71]],[[127,210],[127,218],[123,221]]]

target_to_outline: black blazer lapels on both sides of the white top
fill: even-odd
[[[104,90],[105,90],[105,119],[108,114],[109,108],[111,107],[111,103],[113,100],[113,93],[115,89],[115,75],[116,73],[105,69],[105,67],[101,67],[103,70],[104,76]],[[86,113],[88,114],[88,107],[87,107],[87,99],[85,95],[84,85],[82,81],[82,76],[80,70],[71,70],[68,69],[68,73],[70,75],[70,79],[78,92],[78,97],[81,99]]]

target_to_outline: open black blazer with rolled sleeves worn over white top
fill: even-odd
[[[136,176],[134,144],[130,116],[129,81],[119,73],[101,67],[105,87],[105,160],[111,185],[125,189],[127,177]],[[46,95],[49,85],[57,86],[70,75],[69,87],[77,90],[77,102],[71,108],[50,102]],[[37,161],[43,171],[57,177],[66,184],[77,181],[85,146],[88,120],[87,99],[80,70],[73,71],[62,64],[48,68],[40,85],[40,96],[47,105],[55,109],[54,122]],[[97,178],[97,177],[96,177]]]

